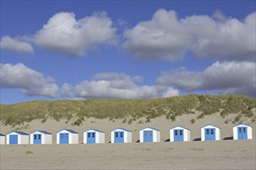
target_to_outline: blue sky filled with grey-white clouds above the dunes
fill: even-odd
[[[1,1],[1,104],[255,97],[255,1]]]

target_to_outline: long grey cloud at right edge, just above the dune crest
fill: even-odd
[[[157,83],[185,92],[220,90],[222,93],[252,96],[255,93],[255,70],[254,62],[216,62],[201,72],[182,69],[162,73],[157,78]]]

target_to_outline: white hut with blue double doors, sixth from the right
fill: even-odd
[[[105,132],[96,129],[89,129],[84,132],[84,144],[105,143]]]

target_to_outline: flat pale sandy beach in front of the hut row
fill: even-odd
[[[254,168],[254,140],[1,146],[1,169]]]

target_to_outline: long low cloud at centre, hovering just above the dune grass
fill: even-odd
[[[92,81],[85,80],[74,87],[74,97],[83,98],[153,98],[172,97],[178,90],[168,86],[138,86],[137,76],[122,73],[99,73]]]

